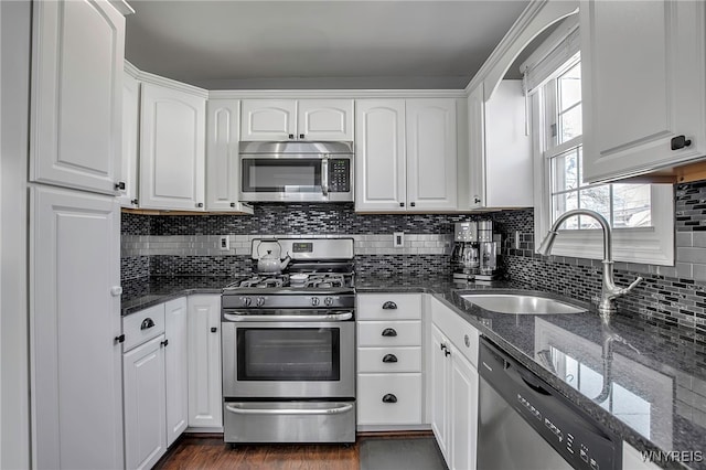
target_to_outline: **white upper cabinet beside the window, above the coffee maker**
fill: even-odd
[[[469,200],[460,209],[530,207],[533,167],[525,135],[520,81],[502,81],[488,102],[483,85],[471,90],[469,111]]]

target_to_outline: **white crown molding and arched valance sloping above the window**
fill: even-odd
[[[482,83],[483,99],[488,102],[522,50],[547,26],[577,11],[578,0],[532,1],[471,78],[467,96]]]

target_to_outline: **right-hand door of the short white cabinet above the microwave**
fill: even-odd
[[[353,140],[352,99],[300,99],[297,103],[297,138]]]

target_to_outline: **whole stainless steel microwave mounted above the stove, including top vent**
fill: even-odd
[[[353,142],[240,142],[240,201],[353,201]]]

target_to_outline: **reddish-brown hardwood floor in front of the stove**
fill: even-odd
[[[428,437],[430,432],[388,435],[400,439]],[[154,469],[238,470],[359,470],[361,445],[379,435],[361,435],[354,445],[240,445],[231,447],[221,435],[182,436]]]

